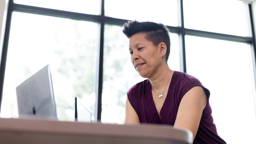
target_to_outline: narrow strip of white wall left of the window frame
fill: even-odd
[[[9,0],[0,0],[0,62],[4,43],[5,24]]]

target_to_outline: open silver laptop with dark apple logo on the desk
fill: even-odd
[[[19,118],[58,120],[50,64],[16,87]]]

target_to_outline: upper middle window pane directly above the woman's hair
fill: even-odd
[[[158,0],[157,3],[161,5],[157,7],[154,0],[105,0],[105,16],[177,26],[177,0]]]

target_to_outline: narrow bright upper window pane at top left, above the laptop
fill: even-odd
[[[16,4],[99,15],[100,0],[14,0]]]

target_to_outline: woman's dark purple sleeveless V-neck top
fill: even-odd
[[[191,75],[174,71],[166,99],[160,111],[162,120],[156,110],[151,92],[151,83],[148,79],[131,87],[127,92],[127,96],[139,117],[140,123],[174,125],[182,97],[195,86],[201,86],[204,89],[207,104],[203,110],[194,144],[226,143],[217,134],[216,126],[213,123],[212,109],[209,104],[210,91],[197,78]]]

